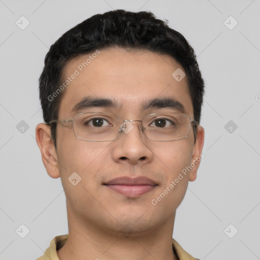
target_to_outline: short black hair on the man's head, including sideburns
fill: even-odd
[[[187,40],[148,11],[109,11],[96,14],[65,32],[48,51],[39,78],[40,100],[45,123],[58,119],[62,93],[53,93],[62,84],[64,67],[69,60],[97,49],[122,47],[127,50],[148,50],[167,54],[179,62],[185,71],[192,100],[194,120],[200,123],[204,80],[196,55]],[[51,97],[51,98],[50,98]],[[51,124],[51,138],[56,148],[56,124]],[[194,125],[194,142],[197,125]]]

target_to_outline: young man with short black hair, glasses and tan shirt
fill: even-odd
[[[37,143],[69,234],[38,260],[195,259],[172,239],[204,143],[204,81],[184,37],[150,12],[94,15],[51,46],[39,82]]]

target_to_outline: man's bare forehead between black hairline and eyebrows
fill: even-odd
[[[111,112],[122,116],[140,114],[154,99],[174,99],[192,116],[187,79],[177,81],[172,76],[177,69],[182,67],[174,58],[150,51],[110,48],[78,56],[63,71],[63,82],[68,84],[64,84],[59,118],[75,115],[73,108],[84,98],[113,100],[117,106]]]

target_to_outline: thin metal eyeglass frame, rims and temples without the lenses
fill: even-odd
[[[76,116],[79,116],[79,115],[90,114],[90,113],[105,113],[105,114],[111,114],[111,115],[115,115],[115,116],[118,116],[118,117],[122,118],[121,116],[119,116],[119,115],[117,115],[117,114],[114,114],[114,113],[101,112],[101,111],[93,111],[93,112],[92,112],[92,111],[91,111],[91,112],[79,113],[79,114],[77,114],[77,115],[74,115],[73,118],[67,118],[67,119],[63,119],[63,120],[51,120],[51,121],[49,121],[49,122],[47,123],[47,125],[50,125],[50,124],[52,124],[52,123],[71,123],[71,122],[72,122],[72,123],[73,123],[73,132],[74,132],[75,137],[76,137],[77,139],[79,139],[79,140],[88,141],[88,142],[112,142],[112,141],[117,140],[117,139],[121,136],[121,134],[122,134],[122,132],[123,132],[123,129],[121,129],[120,126],[119,126],[120,133],[118,132],[119,135],[118,135],[118,137],[117,137],[116,139],[114,139],[114,140],[109,140],[109,141],[94,141],[94,140],[84,140],[84,139],[78,138],[77,135],[76,135],[76,133],[75,133],[75,129],[74,129],[74,122],[75,122],[75,121],[74,121],[74,118],[75,118]],[[146,134],[144,133],[144,132],[145,132],[145,129],[144,129],[144,126],[143,126],[143,119],[144,119],[145,117],[147,117],[147,116],[160,115],[160,114],[178,114],[178,115],[185,115],[185,116],[187,116],[187,117],[189,118],[189,122],[190,122],[189,133],[190,133],[191,126],[194,127],[194,126],[197,126],[197,125],[199,124],[199,122],[197,122],[197,121],[195,121],[195,120],[191,120],[191,118],[190,118],[189,115],[183,114],[183,113],[175,113],[175,112],[153,113],[153,114],[145,115],[142,119],[136,119],[136,120],[133,120],[133,119],[123,119],[123,118],[122,118],[122,120],[123,120],[122,124],[124,124],[125,121],[126,121],[126,122],[129,122],[129,121],[139,121],[139,122],[141,122],[142,128],[139,127],[139,130],[141,131],[141,133],[143,133],[143,134],[145,135],[146,139],[148,139],[148,140],[150,140],[150,141],[154,141],[154,142],[174,142],[174,141],[180,141],[180,140],[183,140],[183,139],[185,139],[185,138],[187,138],[187,137],[189,136],[189,133],[188,133],[187,136],[185,136],[184,138],[181,138],[181,139],[178,139],[178,140],[170,140],[170,141],[158,141],[158,140],[151,140],[151,139],[147,138]],[[196,136],[195,136],[195,138],[196,138]]]

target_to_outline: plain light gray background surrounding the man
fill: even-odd
[[[200,259],[260,259],[259,0],[0,0],[0,259],[36,259],[68,232],[60,179],[47,175],[35,140],[43,121],[38,78],[63,32],[112,9],[168,19],[196,51],[205,79],[205,157],[177,210],[174,238]],[[24,228],[16,233],[21,224],[25,238]]]

